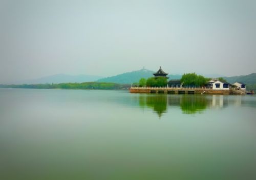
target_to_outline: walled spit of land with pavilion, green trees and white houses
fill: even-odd
[[[229,84],[223,78],[210,79],[196,73],[183,74],[180,80],[169,80],[168,73],[160,66],[154,77],[141,79],[139,86],[131,87],[131,93],[168,93],[168,94],[254,94],[246,91],[241,82]]]

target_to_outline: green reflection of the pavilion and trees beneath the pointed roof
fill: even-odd
[[[167,107],[167,95],[166,94],[158,94],[158,95],[147,95],[139,97],[139,105],[141,107],[147,106],[148,108],[152,108],[159,117],[163,113],[166,112]]]

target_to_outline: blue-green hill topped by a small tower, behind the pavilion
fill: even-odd
[[[106,83],[118,83],[118,84],[131,84],[139,82],[141,78],[150,78],[153,76],[155,71],[140,69],[132,72],[126,72],[122,74],[118,74],[115,76],[110,76],[108,78],[102,78],[97,80],[97,82],[106,82]],[[180,79],[181,75],[168,75],[169,79]]]

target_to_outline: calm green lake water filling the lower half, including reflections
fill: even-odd
[[[0,179],[256,179],[256,96],[0,89]]]

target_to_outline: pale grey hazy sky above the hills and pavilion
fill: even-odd
[[[0,0],[0,83],[57,73],[256,72],[256,1]]]

